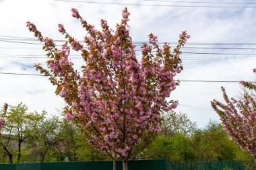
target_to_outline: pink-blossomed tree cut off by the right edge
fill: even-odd
[[[253,69],[256,73],[256,69]],[[241,81],[247,89],[256,91],[255,83]],[[215,99],[211,101],[212,108],[220,116],[224,129],[243,150],[248,151],[256,158],[256,98],[244,93],[242,99],[228,98],[224,87],[223,97],[226,104]]]

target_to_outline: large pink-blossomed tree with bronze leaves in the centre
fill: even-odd
[[[121,157],[126,170],[131,151],[143,134],[160,131],[160,112],[177,106],[176,101],[168,102],[166,97],[179,85],[174,76],[183,69],[180,48],[190,36],[182,32],[177,48],[171,52],[169,44],[165,43],[161,49],[157,37],[150,34],[150,44],[141,46],[139,62],[129,36],[127,8],[114,34],[105,20],[101,20],[100,32],[88,24],[77,9],[71,11],[88,32],[84,38],[88,48],[59,24],[59,32],[67,42],[58,50],[53,40],[44,38],[36,26],[28,22],[28,29],[44,42],[43,49],[49,57],[49,69],[41,65],[36,65],[36,69],[57,85],[55,93],[67,103],[67,120],[75,119],[81,124],[90,143],[111,157],[114,164],[117,156]],[[85,61],[82,74],[73,69],[68,58],[69,44],[73,50],[82,52]]]

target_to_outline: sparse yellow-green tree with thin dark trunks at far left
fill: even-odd
[[[13,153],[18,153],[17,161],[20,162],[22,157],[22,143],[31,136],[36,123],[42,120],[42,116],[37,112],[27,113],[28,107],[23,103],[17,106],[9,105],[5,114],[5,126],[3,133],[5,139],[2,138],[1,146],[5,151],[5,155],[9,157],[9,162],[13,163]]]

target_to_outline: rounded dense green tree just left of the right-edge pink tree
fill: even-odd
[[[234,161],[238,147],[217,122],[210,122],[203,130],[195,130],[191,146],[195,161]]]

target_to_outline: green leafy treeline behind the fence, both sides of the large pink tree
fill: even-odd
[[[23,103],[9,106],[1,135],[0,163],[103,161],[74,122],[46,112],[28,113]],[[59,114],[61,115],[61,114]],[[253,159],[226,134],[221,124],[210,122],[198,129],[186,114],[162,115],[162,132],[143,136],[131,159],[168,161],[251,161]]]

